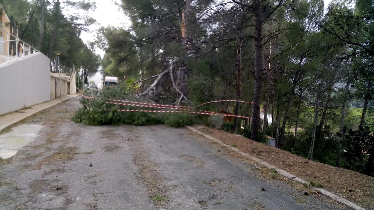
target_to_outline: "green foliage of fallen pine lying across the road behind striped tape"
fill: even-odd
[[[107,99],[120,99],[135,101],[127,95],[128,85],[120,83],[117,86],[106,86],[100,92],[93,92],[92,95],[97,98],[85,99],[82,98],[80,103],[84,108],[79,109],[72,120],[76,123],[83,123],[89,125],[119,125],[131,124],[135,126],[145,126],[152,124],[165,123],[172,127],[183,127],[194,123],[196,115],[183,113],[150,113],[150,112],[129,112],[118,111],[118,109],[144,109],[153,110],[151,108],[137,108],[133,106],[120,106],[107,104]],[[86,93],[87,94],[87,93]],[[111,109],[111,111],[100,111],[101,109]]]

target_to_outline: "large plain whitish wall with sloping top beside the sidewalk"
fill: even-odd
[[[0,65],[0,114],[50,100],[50,60],[34,53]]]

